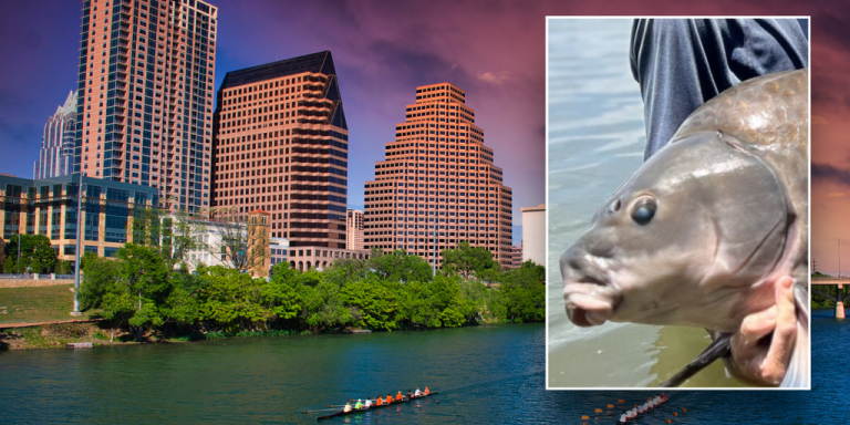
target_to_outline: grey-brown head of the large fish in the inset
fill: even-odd
[[[561,256],[567,314],[580,326],[611,320],[734,330],[769,307],[754,288],[782,257],[790,209],[771,167],[733,137],[677,139]]]

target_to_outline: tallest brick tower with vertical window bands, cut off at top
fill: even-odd
[[[83,1],[74,172],[209,208],[217,15],[200,0]]]

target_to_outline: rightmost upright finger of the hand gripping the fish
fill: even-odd
[[[781,382],[794,352],[797,339],[797,314],[794,304],[794,279],[784,277],[776,286],[776,329],[770,350],[763,363],[765,379],[775,384]]]

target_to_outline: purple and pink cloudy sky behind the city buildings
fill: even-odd
[[[515,225],[521,224],[520,207],[542,204],[547,14],[811,14],[812,112],[819,113],[822,101],[830,105],[823,117],[837,123],[850,108],[850,92],[843,89],[850,54],[842,48],[850,40],[850,18],[829,10],[827,2],[785,1],[769,8],[738,1],[630,0],[211,2],[219,7],[216,87],[227,71],[325,49],[333,52],[351,134],[351,207],[363,206],[363,182],[374,177],[374,163],[384,157],[384,144],[393,141],[395,124],[404,121],[404,106],[414,102],[415,86],[439,82],[466,91],[485,143],[494,148],[496,165],[505,169],[505,184],[514,189]],[[3,4],[0,173],[32,176],[44,123],[76,85],[81,9],[81,2],[72,0]],[[821,42],[825,46],[818,48]],[[825,65],[822,71],[819,64]],[[836,139],[835,144],[846,151],[841,158],[850,154],[847,143]],[[813,152],[817,160],[819,151],[813,147]],[[836,160],[833,166],[850,170],[846,160]],[[832,185],[842,185],[829,178]],[[850,193],[850,183],[847,189]],[[515,229],[518,241],[519,229]],[[817,234],[817,226],[813,230]]]

